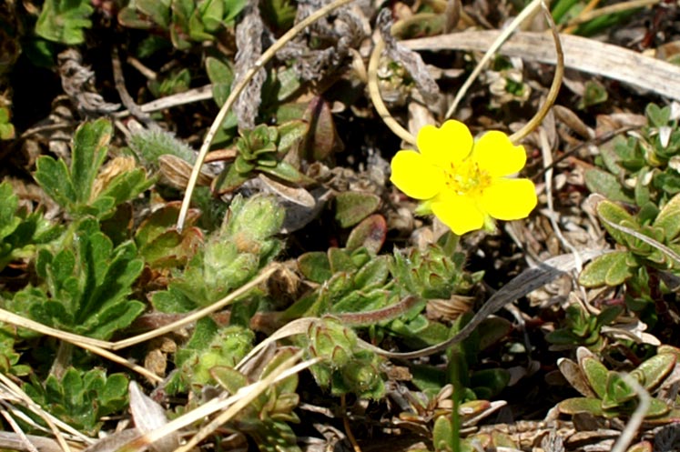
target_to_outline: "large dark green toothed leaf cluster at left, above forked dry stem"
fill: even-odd
[[[47,326],[107,339],[144,311],[143,303],[128,298],[144,262],[134,243],[114,247],[95,219],[74,225],[74,236],[59,251],[39,251],[42,284],[26,286],[7,305]]]

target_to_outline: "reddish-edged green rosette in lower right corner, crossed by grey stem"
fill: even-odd
[[[675,347],[659,347],[654,357],[645,360],[630,372],[640,386],[654,394],[675,368],[680,351]],[[561,413],[590,413],[598,417],[628,417],[638,403],[633,387],[621,373],[609,370],[585,347],[577,350],[578,362],[568,358],[558,361],[560,371],[584,397],[568,398],[557,407]],[[680,412],[661,398],[652,398],[645,414],[646,422],[664,423],[677,419]]]

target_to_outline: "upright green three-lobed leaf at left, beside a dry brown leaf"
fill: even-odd
[[[138,167],[103,177],[96,184],[112,133],[111,123],[106,119],[85,123],[73,138],[70,166],[61,158],[37,159],[36,181],[74,218],[91,215],[106,219],[115,213],[116,206],[135,198],[152,184],[144,169]]]

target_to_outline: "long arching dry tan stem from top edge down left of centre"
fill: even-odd
[[[231,105],[233,105],[234,102],[236,102],[236,99],[241,94],[241,91],[243,91],[243,89],[250,83],[250,80],[253,78],[253,76],[255,76],[258,73],[258,71],[264,65],[267,64],[267,62],[269,62],[269,60],[279,51],[279,49],[284,45],[288,44],[288,42],[293,37],[298,35],[299,32],[304,30],[308,25],[311,25],[314,22],[318,21],[321,17],[328,15],[334,9],[337,9],[342,5],[350,4],[352,1],[354,0],[336,0],[335,2],[329,5],[319,8],[319,10],[315,11],[314,14],[305,17],[305,19],[301,20],[298,24],[290,28],[288,32],[279,37],[277,42],[271,45],[262,55],[260,55],[255,64],[248,70],[248,72],[246,72],[245,75],[243,75],[243,79],[241,79],[239,85],[234,86],[234,89],[231,90],[231,93],[229,93],[224,105],[222,105],[222,108],[219,109],[218,116],[215,117],[212,126],[210,126],[208,134],[206,134],[206,138],[203,140],[203,145],[201,145],[200,150],[198,151],[198,158],[196,159],[196,164],[194,165],[194,168],[191,171],[191,176],[189,177],[187,185],[187,191],[184,194],[182,207],[179,210],[178,217],[179,232],[181,232],[182,228],[184,227],[184,220],[188,213],[189,204],[191,203],[191,196],[194,193],[194,187],[196,186],[196,182],[198,181],[200,167],[203,166],[203,160],[205,160],[206,155],[208,155],[208,149],[210,148],[210,144],[212,143],[212,140],[215,138],[215,134],[218,133],[219,127],[222,126],[222,123],[224,122],[225,116],[227,116],[229,108],[231,108]]]

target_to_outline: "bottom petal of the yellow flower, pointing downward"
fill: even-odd
[[[459,236],[484,226],[484,215],[470,196],[442,194],[434,199],[431,207],[441,223]]]

